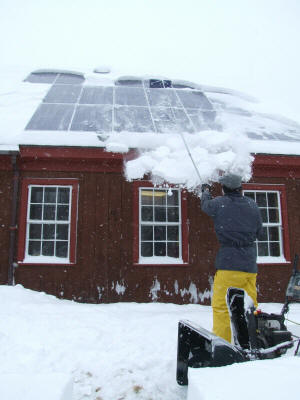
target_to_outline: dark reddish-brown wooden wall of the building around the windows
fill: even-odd
[[[122,175],[122,159],[114,159],[111,163],[106,160],[105,167],[96,153],[82,157],[80,162],[73,160],[70,154],[68,157],[58,156],[58,159],[52,156],[34,159],[31,155],[21,152],[18,164],[20,181],[26,177],[78,179],[77,257],[76,264],[68,266],[20,265],[15,270],[16,283],[58,297],[94,303],[158,300],[209,304],[217,241],[211,219],[200,210],[199,198],[190,193],[187,196],[189,264],[134,265],[134,185]],[[261,170],[256,172],[258,176],[253,182],[286,186],[290,251],[293,255],[299,251],[300,179],[296,176],[265,177],[260,176]],[[6,170],[2,168],[0,176],[0,279],[2,284],[6,284],[12,172],[8,167]],[[259,266],[259,301],[282,302],[290,272],[290,263]],[[153,290],[158,283],[159,290]]]

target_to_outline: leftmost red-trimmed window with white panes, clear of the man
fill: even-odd
[[[19,262],[75,262],[77,195],[73,179],[23,181]]]

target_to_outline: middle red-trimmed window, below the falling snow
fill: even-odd
[[[138,232],[136,259],[140,264],[187,262],[185,195],[177,188],[136,188]]]

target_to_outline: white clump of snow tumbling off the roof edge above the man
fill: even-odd
[[[252,162],[250,141],[245,135],[203,131],[168,137],[163,145],[158,144],[154,149],[143,151],[137,159],[128,161],[125,174],[128,180],[151,174],[155,183],[167,181],[194,189],[201,183],[217,181],[224,172],[239,174],[248,181]]]

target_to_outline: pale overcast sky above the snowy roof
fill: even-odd
[[[299,0],[0,0],[2,65],[164,74],[300,120]]]

